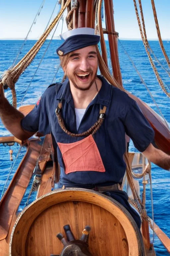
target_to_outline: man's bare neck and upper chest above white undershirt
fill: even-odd
[[[92,86],[86,91],[75,88],[70,81],[70,90],[74,101],[74,107],[79,109],[86,109],[90,102],[98,94],[101,87],[102,81],[97,77],[93,82]]]

